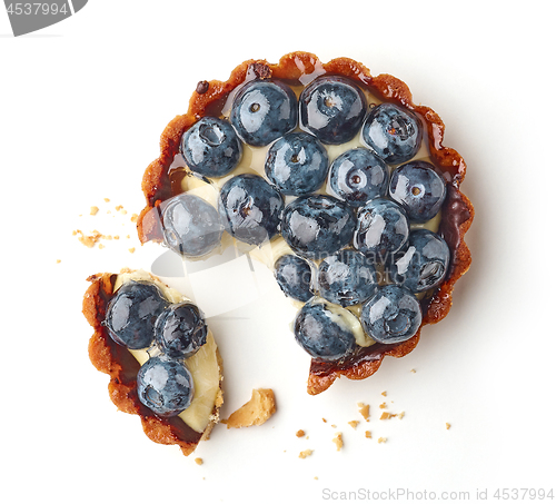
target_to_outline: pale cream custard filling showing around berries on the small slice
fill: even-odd
[[[178,290],[168,287],[143,270],[120,273],[113,286],[115,291],[125,283],[132,280],[153,283],[170,303],[189,300]],[[129,352],[140,365],[143,365],[150,358],[147,348]],[[185,363],[193,378],[195,392],[189,407],[178,416],[193,431],[202,433],[209,423],[216,419],[214,409],[220,394],[220,365],[218,363],[217,345],[210,329],[207,335],[207,343],[195,355],[187,358]]]

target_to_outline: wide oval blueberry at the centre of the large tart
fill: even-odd
[[[351,209],[325,195],[300,196],[284,210],[281,235],[299,255],[319,259],[351,241],[355,218]]]

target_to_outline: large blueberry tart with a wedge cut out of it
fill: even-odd
[[[443,145],[444,130],[403,81],[351,59],[245,61],[226,81],[200,81],[163,130],[142,179],[139,238],[186,259],[234,245],[265,261],[299,303],[294,332],[312,357],[308,393],[340,376],[367,378],[448,314],[470,265],[466,165]],[[187,229],[176,224],[183,216]],[[338,264],[349,285],[330,279]],[[280,283],[284,271],[295,271],[295,285]]]

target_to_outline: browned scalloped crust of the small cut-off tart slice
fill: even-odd
[[[108,393],[118,409],[139,415],[145,434],[155,443],[176,444],[183,455],[189,455],[200,441],[209,438],[212,427],[219,422],[219,409],[222,404],[221,357],[217,350],[220,392],[210,422],[202,433],[193,431],[179,417],[161,418],[155,415],[139,401],[137,394],[136,377],[140,367],[139,363],[126,348],[116,344],[102,326],[117,277],[116,274],[101,273],[88,278],[91,285],[83,297],[83,315],[95,329],[89,340],[89,358],[98,370],[110,375]]]

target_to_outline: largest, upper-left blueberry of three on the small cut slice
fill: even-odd
[[[155,322],[167,306],[155,284],[128,281],[110,299],[103,325],[119,345],[132,350],[147,348],[155,339]]]

